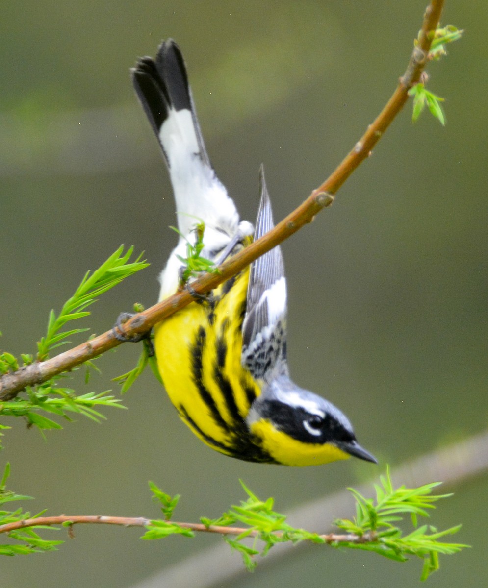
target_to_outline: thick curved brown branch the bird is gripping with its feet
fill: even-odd
[[[240,272],[255,259],[288,239],[298,229],[311,222],[323,208],[331,205],[334,201],[333,195],[346,182],[351,173],[358,168],[360,163],[371,155],[374,145],[383,136],[409,98],[409,89],[419,81],[420,75],[429,60],[431,39],[439,23],[443,5],[443,0],[432,0],[427,7],[417,44],[414,46],[410,56],[406,72],[399,80],[399,85],[376,120],[369,125],[364,135],[334,172],[308,196],[306,201],[281,220],[270,232],[223,263],[219,268],[220,273],[206,274],[192,282],[192,288],[195,292],[202,294],[225,282],[225,280]],[[187,290],[177,292],[170,298],[162,300],[162,302],[151,306],[144,312],[133,316],[124,324],[124,332],[127,336],[146,333],[156,323],[168,318],[177,310],[181,310],[190,304],[192,300],[194,299]],[[45,382],[49,378],[68,371],[120,344],[121,342],[115,339],[112,334],[112,330],[109,330],[86,343],[60,353],[54,358],[8,373],[0,377],[0,402],[12,399],[25,386]]]

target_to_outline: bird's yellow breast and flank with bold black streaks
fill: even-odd
[[[232,455],[236,425],[261,392],[241,366],[249,269],[154,329],[158,368],[181,419],[202,441]],[[214,443],[215,442],[215,443]]]

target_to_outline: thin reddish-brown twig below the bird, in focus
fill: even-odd
[[[63,525],[71,527],[73,524],[116,524],[121,527],[147,527],[151,524],[151,519],[144,517],[123,517],[123,516],[92,516],[92,515],[59,515],[59,516],[40,516],[34,519],[18,520],[13,523],[6,523],[0,525],[1,533],[11,533],[25,529],[26,527],[40,527]],[[240,535],[247,533],[248,537],[258,537],[259,531],[249,530],[249,527],[223,527],[218,525],[206,526],[202,523],[174,523],[168,521],[168,524],[175,524],[182,529],[189,529],[197,533],[218,533],[220,535]],[[281,537],[283,533],[275,533],[277,537]],[[320,535],[321,539],[326,543],[370,543],[376,542],[377,537],[374,533],[364,533],[363,535],[356,535],[353,533],[336,534],[327,533]]]

